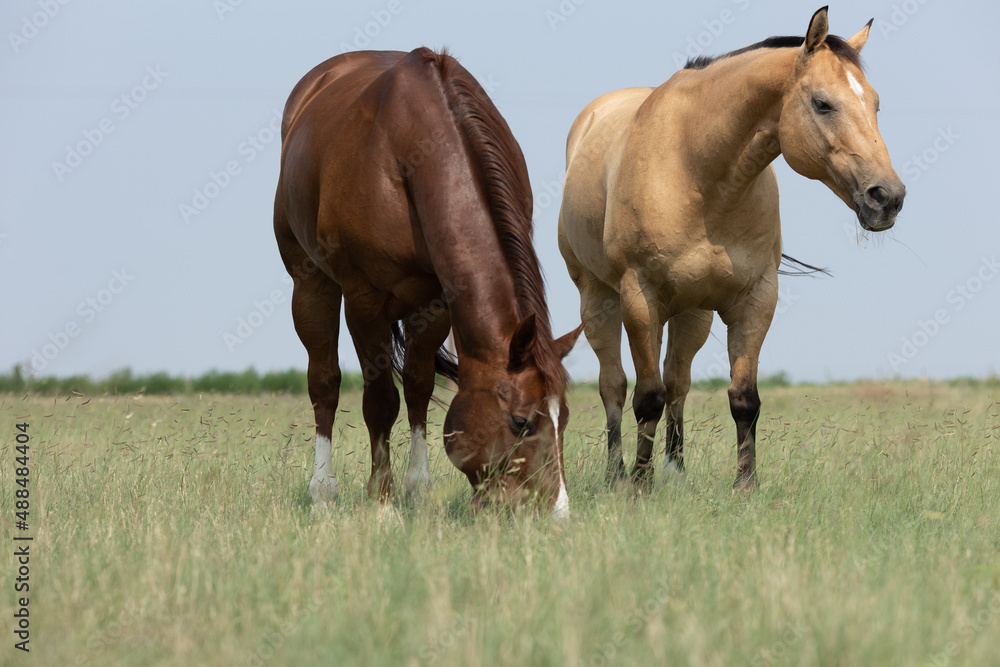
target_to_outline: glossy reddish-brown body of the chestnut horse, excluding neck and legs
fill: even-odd
[[[427,49],[343,54],[307,73],[285,106],[279,246],[297,245],[283,255],[304,253],[345,296],[415,303],[440,292],[408,192],[423,157],[412,147],[426,152],[438,136],[411,111],[439,96],[430,78],[437,57]]]

